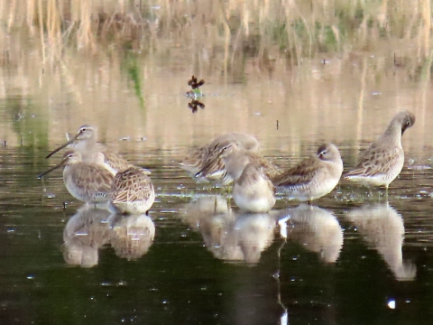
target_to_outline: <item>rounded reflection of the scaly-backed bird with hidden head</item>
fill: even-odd
[[[112,220],[111,246],[115,255],[129,260],[137,259],[147,253],[155,237],[155,225],[152,218],[145,214],[122,216]]]

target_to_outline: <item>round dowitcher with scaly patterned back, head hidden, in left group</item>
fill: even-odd
[[[112,203],[123,213],[143,214],[151,209],[155,191],[151,179],[137,167],[118,172],[112,185]]]

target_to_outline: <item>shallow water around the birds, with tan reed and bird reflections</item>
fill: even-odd
[[[416,23],[411,34],[400,33],[399,19],[419,17],[430,3],[382,7],[383,25],[374,4],[358,8],[373,20],[364,27],[356,14],[354,27],[344,16],[299,7],[308,23],[341,19],[332,26],[341,32],[336,48],[318,32],[310,55],[301,34],[288,36],[300,49],[289,55],[290,47],[264,36],[258,46],[244,28],[235,32],[236,13],[245,20],[261,13],[261,26],[270,28],[262,19],[278,8],[267,3],[244,11],[226,3],[228,33],[218,8],[208,16],[200,5],[164,4],[151,8],[162,23],[149,49],[145,37],[117,47],[78,34],[82,48],[58,51],[52,30],[42,49],[39,33],[20,24],[30,9],[18,5],[13,16],[15,9],[3,8],[0,323],[429,323],[430,36]],[[203,21],[182,24],[182,10]],[[185,96],[192,74],[205,79],[198,98],[205,107],[195,113]],[[245,215],[226,190],[216,197],[178,165],[192,146],[238,131],[255,135],[284,168],[333,142],[347,170],[403,109],[417,121],[403,136],[406,162],[387,198],[383,189],[342,181],[313,207],[279,197],[269,214]],[[61,153],[45,155],[85,123],[152,171],[157,198],[149,216],[82,206],[60,171],[37,179]]]

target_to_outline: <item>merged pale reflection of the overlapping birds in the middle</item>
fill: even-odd
[[[274,237],[274,219],[268,214],[232,213],[222,196],[217,205],[213,196],[199,197],[182,210],[184,222],[201,232],[218,259],[258,263]]]

